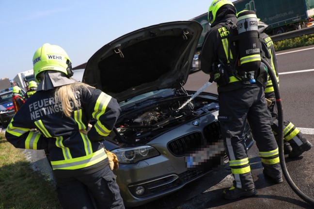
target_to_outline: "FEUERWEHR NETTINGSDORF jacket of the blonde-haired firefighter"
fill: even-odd
[[[108,165],[100,141],[114,128],[121,112],[119,104],[99,89],[81,88],[76,95],[80,108],[73,109],[67,117],[61,103],[55,101],[54,90],[37,91],[25,101],[6,129],[7,141],[17,148],[48,149],[54,175],[88,174]],[[71,100],[70,103],[73,104]],[[87,130],[92,118],[96,122],[88,134],[79,132]]]

